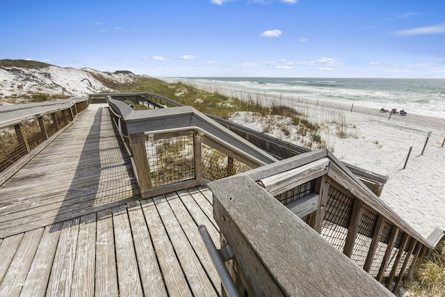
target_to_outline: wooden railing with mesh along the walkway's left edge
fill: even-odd
[[[87,98],[0,106],[0,184],[64,131]]]

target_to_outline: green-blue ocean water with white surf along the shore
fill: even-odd
[[[445,118],[445,79],[320,79],[191,77],[181,79],[211,90],[231,88],[264,95],[318,99],[371,109],[401,109]]]

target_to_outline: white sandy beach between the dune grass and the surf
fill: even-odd
[[[361,168],[387,175],[389,180],[380,196],[407,223],[420,234],[428,236],[435,228],[445,230],[445,118],[431,118],[380,113],[379,110],[353,107],[333,102],[291,102],[308,115],[311,122],[321,125],[319,132],[326,147],[338,159]],[[382,106],[391,109],[392,106]],[[249,113],[236,113],[232,120],[258,131],[264,131],[265,119]],[[282,121],[280,123],[280,121]],[[280,125],[288,125],[284,119],[276,119],[278,126],[268,134],[303,145],[305,138],[296,138],[296,131],[286,136]],[[345,138],[338,136],[343,129]],[[428,137],[423,155],[421,152]],[[403,169],[408,151],[410,159]]]

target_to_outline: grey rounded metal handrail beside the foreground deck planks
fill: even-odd
[[[200,232],[202,241],[204,242],[204,245],[206,246],[207,251],[209,252],[213,265],[216,268],[216,272],[218,273],[221,283],[223,284],[223,287],[225,289],[225,293],[227,294],[227,296],[233,296],[233,297],[240,296],[238,293],[238,289],[236,289],[234,281],[232,280],[232,277],[229,274],[229,271],[227,271],[227,268],[224,265],[224,259],[220,255],[220,250],[216,249],[216,246],[211,240],[210,234],[207,231],[206,226],[200,225],[199,227],[197,227],[197,230]],[[225,260],[227,261],[227,259]]]

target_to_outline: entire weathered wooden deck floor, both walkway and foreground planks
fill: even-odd
[[[205,187],[141,200],[104,105],[0,187],[0,296],[220,296]]]

